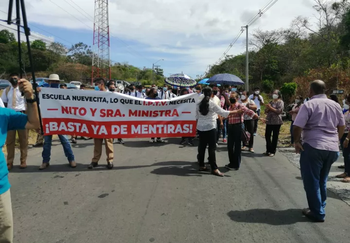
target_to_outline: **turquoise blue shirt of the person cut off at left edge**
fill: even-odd
[[[27,115],[12,109],[0,107],[0,194],[10,189],[6,160],[2,153],[7,131],[25,129],[27,121]]]

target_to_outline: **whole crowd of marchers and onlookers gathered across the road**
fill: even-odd
[[[20,168],[27,167],[28,151],[28,130],[38,129],[39,119],[36,109],[36,97],[33,94],[33,87],[27,80],[19,79],[18,74],[10,75],[11,86],[6,88],[0,99],[0,147],[6,141],[7,167],[5,157],[0,151],[0,217],[8,219],[0,226],[1,237],[11,238],[12,232],[12,209],[10,198],[10,184],[8,182],[8,171],[13,168],[15,158],[15,140],[18,134],[20,147]],[[67,88],[65,84],[60,84],[61,80],[57,74],[49,77],[48,83],[51,88]],[[82,85],[80,89],[85,89]],[[95,90],[101,92],[117,92],[116,84],[113,80],[105,82],[103,78],[95,80]],[[37,88],[40,92],[41,89]],[[177,96],[189,93],[197,93],[198,102],[196,104],[196,120],[198,133],[198,154],[199,171],[207,171],[205,165],[205,152],[208,146],[208,162],[211,174],[224,176],[218,170],[216,164],[215,151],[217,142],[222,136],[223,142],[227,142],[227,153],[229,163],[225,165],[228,170],[237,171],[241,166],[241,152],[248,150],[254,153],[254,136],[256,136],[258,120],[266,123],[265,140],[266,156],[275,156],[280,127],[283,123],[282,113],[284,103],[279,90],[272,92],[272,100],[265,103],[260,88],[255,87],[254,92],[249,95],[243,88],[237,89],[235,86],[207,87],[197,86],[194,88],[174,88],[167,85],[157,88],[152,85],[150,88],[143,86],[130,86],[121,91],[126,95],[135,96],[149,100],[174,99]],[[344,155],[345,172],[337,175],[343,182],[350,182],[350,96],[343,101],[343,111],[338,101],[328,99],[324,82],[316,80],[311,83],[309,97],[303,101],[298,95],[295,104],[289,114],[292,116],[291,124],[291,144],[296,152],[300,153],[300,170],[304,182],[309,208],[302,212],[310,219],[317,222],[324,222],[326,205],[326,182],[331,165],[339,156],[338,142],[340,140]],[[4,108],[6,107],[6,108]],[[262,107],[266,118],[260,117]],[[50,136],[41,136],[38,131],[38,139],[35,146],[43,145],[42,164],[40,170],[48,168],[51,159],[52,139]],[[71,149],[70,141],[75,143],[76,136],[68,139],[66,135],[58,135],[63,146],[65,156],[69,165],[75,168],[76,162]],[[105,142],[107,168],[113,168],[113,139],[94,140],[94,151],[88,169],[98,166],[102,156],[103,142]],[[194,145],[193,138],[183,137],[180,143],[186,142]],[[118,139],[119,143],[124,143],[123,139]],[[151,138],[150,143],[165,141],[161,138]],[[41,143],[41,144],[40,144]]]

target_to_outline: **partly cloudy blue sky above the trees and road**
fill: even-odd
[[[165,76],[183,72],[196,78],[220,58],[241,27],[269,2],[109,0],[110,59],[139,68],[152,68],[164,59],[157,65]],[[25,4],[33,34],[66,46],[77,42],[92,45],[95,0],[25,0]],[[288,28],[297,16],[312,17],[312,6],[313,0],[278,0],[249,27],[248,35],[259,28]],[[6,19],[7,12],[8,0],[1,0],[0,19]],[[243,52],[245,33],[228,54]]]

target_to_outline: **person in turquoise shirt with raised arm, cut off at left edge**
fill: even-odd
[[[0,107],[0,148],[5,144],[7,131],[36,129],[40,126],[36,99],[31,83],[25,79],[18,80],[19,92],[24,94],[27,104],[26,114],[14,109]],[[13,242],[13,216],[8,170],[5,156],[0,149],[0,242]]]

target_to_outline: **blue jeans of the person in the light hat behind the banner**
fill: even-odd
[[[74,155],[70,147],[68,136],[58,135],[58,138],[61,141],[61,144],[63,146],[63,151],[65,152],[65,156],[68,158],[68,162],[74,161]],[[51,145],[52,145],[52,135],[44,136],[43,152],[41,155],[43,157],[43,163],[50,163]]]

